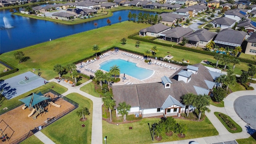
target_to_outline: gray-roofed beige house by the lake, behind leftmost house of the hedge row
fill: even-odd
[[[174,14],[174,13],[162,13],[159,14],[158,17],[162,17],[161,23],[163,24],[167,24],[167,25],[172,25],[172,24],[176,24],[177,21],[180,20],[185,20],[185,16],[180,15],[180,14]]]

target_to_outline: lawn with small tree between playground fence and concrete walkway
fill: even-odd
[[[41,131],[56,144],[90,144],[92,136],[92,101],[77,93],[68,94],[66,97],[77,102],[79,107]],[[82,107],[87,107],[90,112],[90,116],[85,116],[87,118],[85,122],[81,122],[80,117],[76,114]],[[82,124],[86,126],[82,128]]]

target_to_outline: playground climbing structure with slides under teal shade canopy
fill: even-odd
[[[44,96],[41,92],[32,93],[30,94],[30,96],[27,96],[19,100],[25,103],[25,105],[22,107],[23,110],[25,110],[27,107],[30,109],[31,113],[28,114],[28,117],[32,116],[36,112],[34,116],[32,116],[34,120],[38,115],[40,115],[41,117],[42,114],[46,114],[44,108],[46,108],[47,106],[48,108],[50,108],[50,105],[53,105],[60,108],[60,105],[52,102],[52,100],[54,99],[52,99],[49,94]],[[48,108],[46,108],[46,110]]]

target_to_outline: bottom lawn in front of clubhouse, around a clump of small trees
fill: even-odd
[[[149,144],[157,143],[150,135],[150,130],[148,123],[153,124],[158,122],[160,118],[143,118],[138,122],[119,124],[118,126],[114,124],[109,124],[106,121],[102,121],[103,136],[107,136],[107,142],[110,144]],[[174,133],[172,136],[168,137],[165,134],[162,135],[162,140],[159,142],[168,142],[176,140],[184,140],[191,138],[199,138],[206,136],[218,135],[217,130],[211,124],[211,122],[206,117],[202,122],[175,119],[179,124],[186,124],[188,131],[186,132],[185,138],[178,138],[177,134]],[[132,127],[132,130],[129,130]],[[104,143],[104,141],[103,141]]]

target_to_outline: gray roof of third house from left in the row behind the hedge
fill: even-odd
[[[186,36],[186,38],[194,42],[199,42],[199,41],[208,42],[209,40],[212,40],[212,38],[214,38],[214,36],[216,35],[217,35],[216,32],[211,32],[206,29],[200,29]]]

